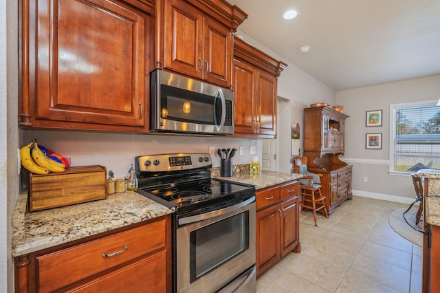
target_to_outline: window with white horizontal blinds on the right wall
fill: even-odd
[[[440,106],[434,101],[391,106],[390,171],[415,173],[419,169],[440,169]]]

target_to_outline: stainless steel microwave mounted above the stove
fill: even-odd
[[[234,92],[156,69],[151,72],[150,130],[234,133]]]

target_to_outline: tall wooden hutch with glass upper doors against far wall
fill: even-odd
[[[353,197],[352,167],[339,160],[344,153],[345,120],[348,115],[327,106],[304,109],[304,155],[307,168],[322,174],[322,195],[331,214],[336,206]]]

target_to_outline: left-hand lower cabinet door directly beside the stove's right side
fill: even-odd
[[[280,259],[279,204],[256,213],[256,274],[261,274]]]

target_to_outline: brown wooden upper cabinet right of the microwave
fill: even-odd
[[[277,78],[287,64],[234,38],[234,134],[276,137]]]

